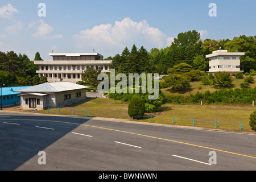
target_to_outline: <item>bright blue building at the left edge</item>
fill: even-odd
[[[2,88],[2,107],[20,104],[20,93],[14,92],[29,86],[9,86]],[[0,98],[1,99],[1,98]]]

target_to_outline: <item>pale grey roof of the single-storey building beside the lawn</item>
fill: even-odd
[[[46,82],[44,84],[31,86],[16,90],[15,92],[32,92],[32,93],[44,93],[44,92],[64,92],[69,90],[86,89],[89,86],[73,84],[72,82]]]

